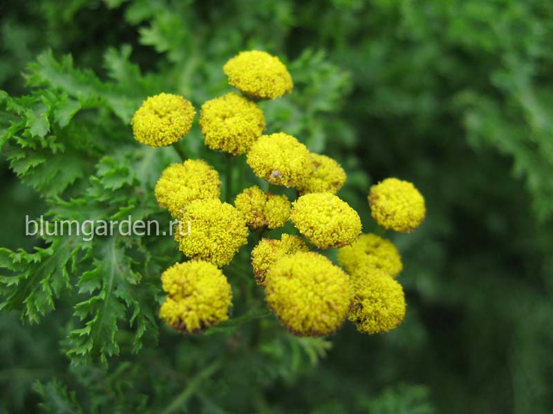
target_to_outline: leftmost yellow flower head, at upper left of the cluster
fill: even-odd
[[[149,97],[133,115],[134,137],[152,147],[171,145],[190,132],[196,111],[187,99],[169,93]]]

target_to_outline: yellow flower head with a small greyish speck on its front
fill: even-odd
[[[307,147],[283,132],[262,135],[247,153],[247,164],[277,186],[295,187],[312,172]]]

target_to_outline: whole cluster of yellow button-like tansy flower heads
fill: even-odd
[[[285,131],[267,130],[258,102],[292,92],[287,68],[252,50],[223,70],[241,93],[203,103],[199,124],[205,146],[226,153],[224,200],[217,170],[203,159],[188,159],[180,145],[196,114],[188,99],[149,97],[131,121],[137,141],[172,145],[182,158],[160,172],[155,188],[159,206],[181,224],[174,239],[186,258],[161,274],[167,295],[160,317],[183,333],[229,319],[233,278],[225,273],[245,276],[235,256],[250,239],[253,274],[246,276],[255,277],[259,286],[252,288],[264,290],[268,306],[294,335],[329,335],[346,319],[368,334],[398,326],[406,304],[395,279],[402,271],[397,248],[362,233],[357,211],[336,195],[346,181],[337,161],[310,152]],[[258,181],[244,184],[244,159],[236,157],[243,154]],[[397,178],[372,186],[368,204],[382,230],[410,232],[425,215],[422,195]],[[182,232],[182,223],[189,231]],[[330,249],[337,249],[338,263],[327,257]]]

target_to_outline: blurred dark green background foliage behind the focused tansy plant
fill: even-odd
[[[22,73],[48,48],[101,79],[119,53],[197,104],[225,87],[229,57],[262,48],[287,61],[297,94],[265,112],[301,114],[279,115],[281,125],[341,161],[341,196],[365,224],[375,181],[400,177],[424,194],[423,226],[393,238],[408,304],[400,328],[346,326],[316,366],[281,355],[256,375],[229,365],[189,412],[540,414],[553,412],[552,45],[543,0],[3,1],[0,89],[27,93]],[[24,215],[44,200],[4,157],[1,174],[0,245],[30,249]],[[167,348],[108,372],[71,367],[58,351],[68,313],[62,303],[32,326],[1,314],[0,410],[46,400],[77,412],[78,400],[86,412],[157,412],[153,395],[167,400],[160,388],[181,380],[138,360],[171,366]],[[215,352],[191,342],[180,358]]]

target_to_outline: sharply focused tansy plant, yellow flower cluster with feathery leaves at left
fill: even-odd
[[[313,361],[330,346],[313,337],[346,320],[364,333],[402,322],[402,262],[382,236],[417,228],[424,199],[395,178],[369,189],[355,161],[346,184],[345,169],[315,153],[344,126],[321,116],[344,96],[344,72],[312,52],[289,72],[254,50],[183,81],[180,67],[142,75],[130,54],[106,52],[111,81],[71,57],[39,55],[26,73],[30,95],[0,91],[0,147],[44,201],[30,215],[46,205],[50,224],[131,217],[154,219],[160,231],[35,233],[30,253],[0,248],[1,310],[37,323],[57,308],[74,364],[107,364],[157,340],[170,346],[178,332],[226,336],[279,361],[301,349]],[[362,217],[370,208],[374,234],[362,233],[361,217],[340,197],[359,192],[368,193],[368,205],[356,206],[365,206]],[[175,230],[164,235],[170,222]],[[207,343],[207,335],[185,343]]]

